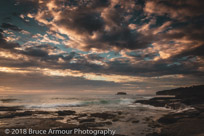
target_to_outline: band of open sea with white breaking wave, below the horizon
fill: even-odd
[[[145,98],[144,98],[145,97]],[[151,98],[151,96],[148,96]],[[24,106],[26,109],[48,109],[48,110],[56,110],[58,108],[64,109],[66,107],[81,109],[89,108],[91,106],[93,109],[105,107],[107,109],[113,108],[145,108],[151,110],[169,110],[164,107],[154,107],[150,105],[144,105],[140,103],[134,103],[139,99],[147,99],[147,96],[136,96],[136,95],[125,95],[125,96],[117,96],[117,95],[95,95],[95,96],[68,96],[68,95],[60,95],[60,96],[28,96],[28,97],[17,97],[18,101],[10,102],[10,103],[2,103],[4,106]]]

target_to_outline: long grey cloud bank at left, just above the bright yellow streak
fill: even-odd
[[[62,54],[48,55],[49,51],[57,51],[59,48],[53,47],[51,45],[36,45],[32,47],[27,47],[24,50],[17,50],[15,47],[20,47],[18,43],[10,43],[4,40],[3,35],[0,35],[0,48],[6,49],[5,54],[12,54],[13,57],[19,56],[18,60],[14,58],[4,58],[0,57],[0,65],[6,67],[40,67],[40,68],[57,68],[57,69],[72,69],[81,70],[84,72],[93,72],[101,69],[102,67],[89,63],[88,59],[94,59],[92,55],[88,58],[81,56],[79,53],[70,52]],[[4,51],[3,51],[4,52]],[[91,57],[92,56],[92,57]],[[27,58],[25,61],[24,58]],[[58,60],[61,59],[64,63],[59,63]],[[72,59],[76,62],[70,63]],[[95,58],[97,59],[97,58]],[[99,59],[99,57],[98,57]],[[102,59],[102,58],[101,58]]]

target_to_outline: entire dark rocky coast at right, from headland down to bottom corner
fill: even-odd
[[[159,91],[157,95],[175,95],[175,97],[155,97],[135,103],[171,108],[175,112],[159,118],[156,121],[159,125],[155,127],[160,127],[161,131],[149,133],[147,136],[204,136],[203,85]],[[182,111],[186,107],[192,108]]]

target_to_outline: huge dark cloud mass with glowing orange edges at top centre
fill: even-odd
[[[134,1],[121,3],[89,1],[88,4],[78,1],[78,6],[73,3],[70,5],[69,3],[69,8],[64,8],[59,14],[59,19],[54,21],[54,23],[66,31],[70,37],[75,35],[83,37],[80,43],[76,43],[77,48],[83,50],[90,50],[91,48],[145,48],[151,43],[151,39],[147,39],[141,33],[132,31],[128,27],[129,23],[125,18],[128,15],[126,11],[127,4],[130,2],[135,6]],[[58,7],[61,6],[59,2],[55,4]],[[46,14],[49,14],[49,12],[46,12]],[[46,17],[46,15],[44,17],[43,19],[46,20],[52,18],[51,16]]]

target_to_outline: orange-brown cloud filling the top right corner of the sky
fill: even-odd
[[[148,0],[144,11],[160,16],[168,15],[171,18],[186,20],[189,17],[203,15],[204,2],[200,0]]]

